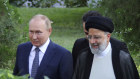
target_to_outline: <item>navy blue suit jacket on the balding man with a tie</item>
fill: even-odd
[[[31,42],[23,43],[17,48],[14,75],[29,74],[29,55],[32,48]],[[65,48],[50,41],[38,68],[35,79],[71,79],[73,73],[73,61],[71,53]]]

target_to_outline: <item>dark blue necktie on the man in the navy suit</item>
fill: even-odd
[[[32,70],[31,70],[31,77],[35,78],[37,73],[37,68],[39,67],[39,48],[35,48],[35,58],[33,60],[32,64]]]

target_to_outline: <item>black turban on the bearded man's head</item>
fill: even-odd
[[[90,16],[86,21],[85,28],[86,30],[89,30],[89,28],[95,28],[112,33],[114,30],[114,25],[112,20],[107,17]]]

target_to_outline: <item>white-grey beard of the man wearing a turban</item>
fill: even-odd
[[[94,43],[93,45],[97,45],[97,43]],[[93,54],[101,54],[107,47],[107,38],[104,40],[104,42],[102,44],[99,45],[98,48],[93,48],[91,46],[91,44],[89,43],[89,47],[90,47],[90,50]]]

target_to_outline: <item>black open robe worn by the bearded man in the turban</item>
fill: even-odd
[[[112,65],[116,79],[139,79],[137,68],[129,52],[122,50],[118,41],[112,41]],[[89,79],[94,55],[87,47],[77,58],[75,72],[72,79]]]

